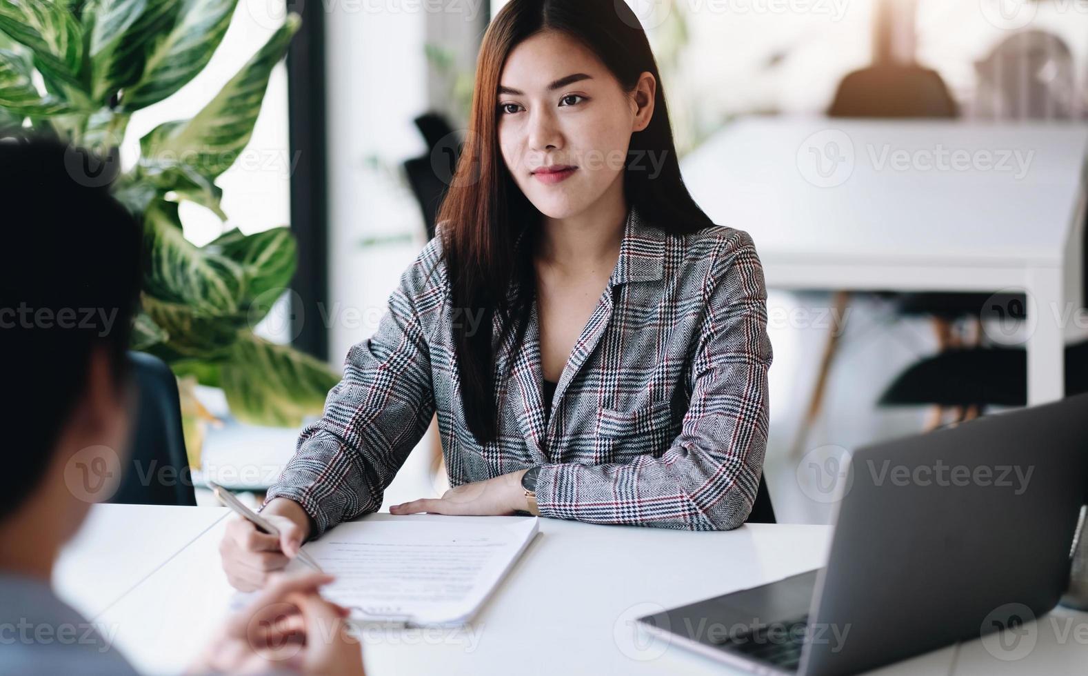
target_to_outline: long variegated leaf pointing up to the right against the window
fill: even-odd
[[[298,26],[298,15],[289,15],[195,118],[168,122],[144,136],[140,139],[141,162],[159,165],[184,162],[209,177],[230,169],[252,136],[269,75],[287,51]]]

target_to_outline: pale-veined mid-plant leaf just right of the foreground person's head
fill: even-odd
[[[201,315],[226,316],[239,311],[245,294],[242,266],[225,256],[203,251],[186,239],[175,202],[156,201],[145,212],[144,246],[147,257],[144,290],[148,295],[184,305]],[[156,323],[172,336],[177,335],[158,318]]]

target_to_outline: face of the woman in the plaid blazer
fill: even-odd
[[[655,87],[646,72],[629,96],[592,51],[556,30],[514,48],[499,76],[498,143],[541,213],[581,213],[621,181],[631,133],[653,114]]]

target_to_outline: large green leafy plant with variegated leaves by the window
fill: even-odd
[[[236,4],[0,0],[0,131],[52,135],[120,167],[132,114],[203,70]],[[133,347],[164,358],[181,377],[221,386],[232,414],[259,425],[300,425],[321,411],[337,380],[323,362],[252,331],[295,273],[295,238],[287,228],[232,229],[198,247],[183,235],[178,205],[195,202],[226,221],[215,180],[249,144],[269,76],[298,27],[289,15],[196,116],[152,130],[135,165],[113,176],[114,195],[143,217],[145,231]],[[89,157],[73,158],[73,179],[98,180]]]

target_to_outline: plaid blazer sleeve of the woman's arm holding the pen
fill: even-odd
[[[382,505],[385,489],[434,415],[431,356],[421,312],[435,311],[441,285],[429,282],[438,257],[435,237],[401,274],[374,334],[348,351],[344,377],[324,413],[306,426],[273,497],[294,500],[318,537]]]

